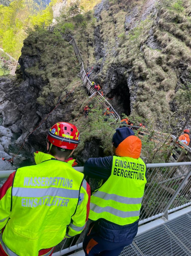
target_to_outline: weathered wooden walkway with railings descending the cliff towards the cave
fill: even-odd
[[[57,28],[52,27],[52,26],[44,26],[43,28],[49,30],[52,33],[54,33],[55,31],[60,32],[61,37],[63,39],[65,39],[66,41],[68,41],[73,46],[76,57],[78,58],[78,62],[80,64],[80,73],[79,73],[79,75],[81,77],[81,80],[83,81],[83,84],[84,84],[85,88],[87,89],[87,93],[90,94],[90,98],[96,96],[96,99],[98,100],[98,102],[101,103],[102,107],[106,108],[106,109],[110,108],[110,110],[112,112],[114,112],[114,113],[111,113],[111,116],[114,119],[119,120],[119,122],[120,122],[121,119],[120,119],[119,114],[116,112],[116,110],[113,108],[113,106],[101,95],[101,93],[99,91],[96,91],[92,87],[92,83],[90,82],[90,80],[86,76],[86,72],[84,70],[83,58],[81,56],[81,53],[79,51],[79,48],[77,46],[77,43],[76,43],[74,37],[72,35],[67,34],[67,33],[63,33],[63,32],[61,32],[60,29],[57,29]]]

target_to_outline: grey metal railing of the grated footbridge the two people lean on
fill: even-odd
[[[83,167],[75,169],[84,171]],[[13,171],[0,171],[0,178],[7,178]],[[169,213],[191,205],[191,162],[147,164],[147,180],[139,225],[158,217],[168,219]],[[65,239],[61,250],[53,253],[53,256],[82,248],[83,233],[76,245],[72,246],[73,238],[69,248],[63,249]]]

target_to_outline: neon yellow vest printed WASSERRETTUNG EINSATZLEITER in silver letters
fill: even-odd
[[[60,243],[69,224],[77,233],[84,228],[70,223],[81,200],[84,175],[72,163],[39,153],[37,165],[19,168],[14,177],[12,210],[1,237],[11,256],[37,256],[41,249]]]

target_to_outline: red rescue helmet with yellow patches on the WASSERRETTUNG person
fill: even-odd
[[[80,135],[75,125],[59,122],[48,131],[47,140],[56,147],[73,150],[78,147]]]

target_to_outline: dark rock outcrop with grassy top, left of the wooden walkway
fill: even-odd
[[[60,45],[64,49],[60,49]],[[19,150],[25,140],[23,148],[28,152],[46,152],[48,129],[59,121],[73,122],[87,100],[87,93],[77,78],[78,62],[73,48],[67,42],[59,43],[54,34],[43,31],[43,35],[31,35],[26,39],[19,64],[19,80],[0,78],[0,147],[10,152],[10,156],[14,155],[10,147],[16,146]],[[13,136],[11,131],[17,135]],[[78,158],[81,163],[95,152],[98,155],[98,143],[90,140],[86,145],[97,149],[92,152],[82,150]],[[10,158],[1,152],[1,148],[0,155]],[[21,156],[17,159],[18,163]],[[4,161],[1,162],[4,169]]]

